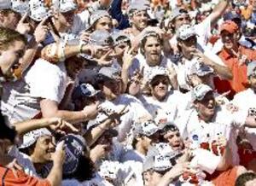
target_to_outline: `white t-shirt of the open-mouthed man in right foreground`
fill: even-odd
[[[212,142],[219,136],[224,136],[228,140],[229,147],[233,155],[233,165],[239,165],[239,157],[236,146],[236,129],[244,125],[247,114],[244,111],[231,113],[225,106],[216,108],[216,114],[212,121],[206,123],[199,119],[195,109],[183,113],[183,117],[176,120],[177,127],[183,138],[199,138],[201,141]],[[215,165],[217,167],[217,165]],[[212,165],[212,171],[215,167]],[[210,170],[210,167],[208,167]]]

